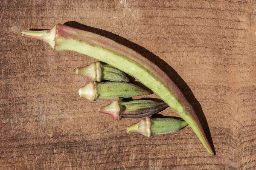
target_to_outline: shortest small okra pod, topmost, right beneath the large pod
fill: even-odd
[[[113,82],[129,82],[127,74],[103,62],[93,62],[86,67],[76,68],[76,74],[91,78],[93,81],[101,82],[109,80]]]

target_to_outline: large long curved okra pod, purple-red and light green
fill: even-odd
[[[62,24],[44,31],[22,31],[22,36],[47,42],[58,51],[70,50],[85,54],[131,75],[180,115],[209,154],[214,155],[203,127],[185,96],[165,72],[143,55],[106,37]]]

